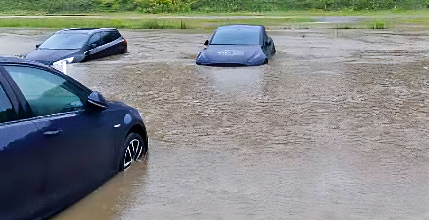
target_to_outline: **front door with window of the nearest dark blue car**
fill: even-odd
[[[116,173],[114,128],[86,106],[88,91],[51,69],[5,66],[30,105],[47,158],[46,193],[66,207]]]

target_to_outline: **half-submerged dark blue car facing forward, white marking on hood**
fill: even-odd
[[[218,27],[196,57],[196,64],[209,66],[257,66],[275,54],[272,38],[261,25],[234,24]]]

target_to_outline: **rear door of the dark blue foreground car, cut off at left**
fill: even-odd
[[[10,79],[9,79],[10,80]],[[43,136],[0,66],[0,219],[43,217],[47,159]]]

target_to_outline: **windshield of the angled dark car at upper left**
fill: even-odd
[[[47,39],[40,49],[79,49],[88,42],[89,35],[85,33],[57,33]]]

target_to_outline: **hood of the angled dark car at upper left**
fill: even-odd
[[[28,53],[27,56],[25,56],[25,58],[28,60],[33,60],[46,65],[52,65],[52,63],[57,62],[58,60],[63,60],[70,57],[75,57],[72,63],[76,63],[83,60],[85,58],[85,54],[83,54],[82,50],[80,49],[36,49]]]

